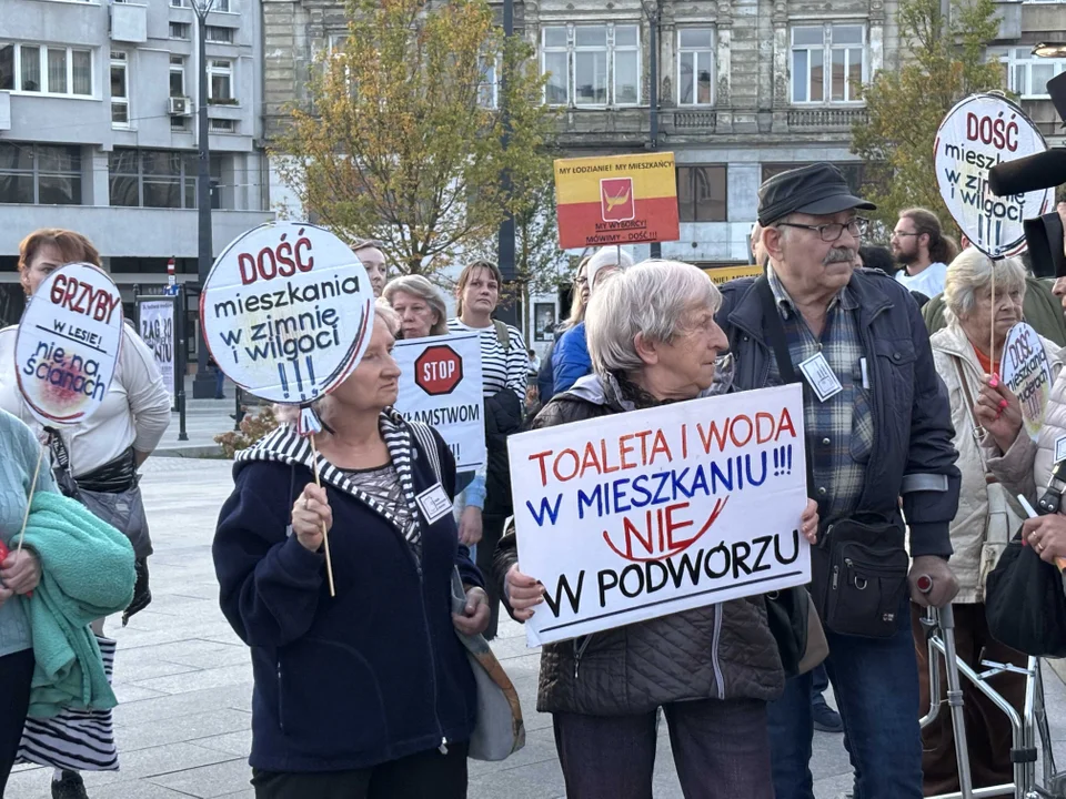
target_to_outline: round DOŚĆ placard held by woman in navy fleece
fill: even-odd
[[[258,397],[310,403],[359,363],[374,320],[366,271],[331,232],[278,222],[238,236],[200,295],[203,337],[225,375]]]

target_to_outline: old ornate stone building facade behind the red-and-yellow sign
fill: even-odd
[[[285,104],[306,100],[302,77],[315,53],[344,36],[345,18],[338,0],[262,3],[270,138],[284,123]],[[831,161],[857,188],[862,164],[851,153],[851,131],[866,119],[859,87],[905,59],[895,0],[514,0],[514,9],[516,33],[535,47],[549,74],[544,100],[561,111],[563,150],[575,156],[653,146],[673,152],[681,239],[664,243],[662,254],[705,267],[748,262],[757,189],[771,175]],[[1024,53],[1038,31],[1066,28],[1066,4],[1013,0],[999,14],[989,58],[1008,64],[1009,88],[1056,141],[1054,109],[1033,92],[1044,91],[1044,75],[1066,64]],[[272,191],[288,189],[272,176]],[[648,252],[646,245],[632,250],[636,257]]]

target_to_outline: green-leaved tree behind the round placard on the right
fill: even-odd
[[[852,131],[852,151],[866,162],[864,190],[877,204],[872,216],[889,230],[912,205],[934,211],[945,224],[951,220],[936,183],[933,143],[955,103],[1003,87],[1003,65],[985,60],[998,30],[995,13],[993,0],[956,1],[948,22],[941,0],[899,3],[906,59],[865,87],[869,119]]]

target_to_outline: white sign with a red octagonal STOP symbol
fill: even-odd
[[[405,419],[436,428],[459,472],[485,463],[485,418],[477,333],[398,341],[400,365],[395,408]]]

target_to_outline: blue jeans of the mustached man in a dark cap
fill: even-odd
[[[922,799],[918,666],[909,599],[892,638],[825,631],[825,668],[844,719],[844,746],[855,769],[855,799]],[[771,702],[770,746],[776,799],[814,799],[811,776],[812,676],[785,684]]]

